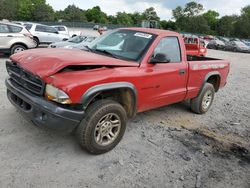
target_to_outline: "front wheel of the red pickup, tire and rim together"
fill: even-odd
[[[124,108],[113,100],[90,105],[76,130],[79,144],[92,154],[112,150],[122,139],[127,123]]]

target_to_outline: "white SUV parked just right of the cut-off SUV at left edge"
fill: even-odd
[[[60,42],[69,39],[69,36],[60,34],[54,27],[35,23],[23,23],[23,25],[33,35],[37,45],[50,44],[52,42]]]

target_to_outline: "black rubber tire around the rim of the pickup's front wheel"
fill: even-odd
[[[99,123],[99,129],[102,130],[104,123],[101,124],[100,121],[109,114],[115,114],[117,116],[120,124],[119,131],[117,131],[116,137],[110,144],[101,145],[97,141],[99,134],[97,134],[98,131],[96,129],[98,129]],[[108,120],[102,122],[107,121]],[[110,122],[112,122],[112,120],[110,120]],[[76,130],[76,136],[83,149],[92,154],[102,154],[112,150],[120,142],[126,130],[126,123],[126,111],[119,103],[107,99],[99,100],[88,107],[85,118]],[[111,130],[114,128],[111,128]],[[102,137],[101,140],[103,140],[105,136],[102,136],[102,133],[100,135],[100,137]],[[108,136],[110,135],[108,134]],[[108,140],[108,138],[106,138],[106,140]]]

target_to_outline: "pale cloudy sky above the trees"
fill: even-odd
[[[108,15],[115,15],[117,12],[132,13],[143,12],[149,7],[154,7],[158,16],[163,20],[172,18],[172,9],[177,6],[184,6],[187,0],[47,0],[55,10],[63,10],[68,5],[75,4],[81,9],[88,9],[100,6],[102,11]],[[250,5],[250,0],[196,0],[201,3],[205,10],[215,10],[220,16],[240,14],[241,8]]]

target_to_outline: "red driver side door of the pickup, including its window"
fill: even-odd
[[[187,62],[182,60],[179,38],[162,38],[152,54],[165,54],[169,62],[149,62],[146,77],[143,78],[144,110],[180,102],[186,96],[188,79]]]

